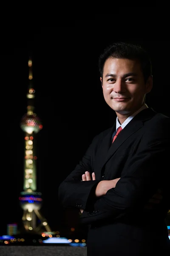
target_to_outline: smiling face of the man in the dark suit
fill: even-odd
[[[122,115],[137,111],[143,104],[144,95],[152,88],[152,77],[144,83],[137,60],[108,58],[100,80],[106,103]]]

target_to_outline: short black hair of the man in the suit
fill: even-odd
[[[152,64],[147,51],[139,44],[116,42],[104,49],[99,56],[99,73],[103,76],[103,68],[108,58],[136,59],[140,62],[144,76],[144,82],[152,75]]]

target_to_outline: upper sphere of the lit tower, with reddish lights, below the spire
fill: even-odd
[[[33,115],[26,113],[21,119],[20,127],[29,134],[33,131],[37,133],[42,129],[40,118],[34,113]]]

